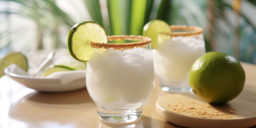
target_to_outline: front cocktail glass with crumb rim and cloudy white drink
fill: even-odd
[[[134,40],[132,43],[94,43],[87,62],[86,85],[97,105],[101,120],[132,122],[142,115],[142,104],[155,86],[151,39],[143,36],[109,36],[109,41]]]

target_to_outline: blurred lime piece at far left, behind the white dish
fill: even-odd
[[[0,77],[4,76],[4,69],[15,63],[21,69],[28,71],[27,58],[20,52],[10,52],[0,62]]]

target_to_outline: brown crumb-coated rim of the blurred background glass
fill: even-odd
[[[178,37],[178,36],[195,36],[203,33],[203,29],[198,26],[187,26],[187,25],[170,25],[169,26],[171,31],[170,33],[160,33],[163,35],[169,35],[171,37]],[[183,30],[177,31],[175,30]]]

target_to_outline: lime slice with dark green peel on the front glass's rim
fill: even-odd
[[[75,24],[68,34],[68,50],[70,55],[78,61],[88,61],[93,52],[102,53],[106,49],[91,48],[89,42],[107,43],[108,38],[105,30],[92,21],[84,21]]]

